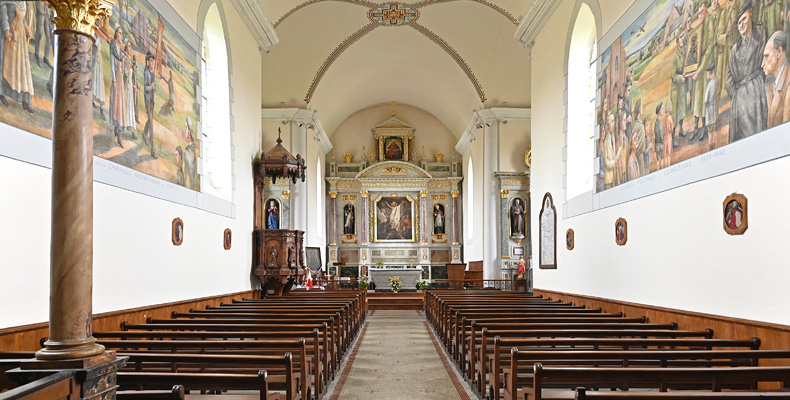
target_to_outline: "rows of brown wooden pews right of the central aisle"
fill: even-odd
[[[760,366],[788,364],[790,351],[760,350],[758,338],[714,339],[710,329],[489,290],[427,291],[425,314],[482,398],[790,399],[756,391],[790,387],[790,366]]]

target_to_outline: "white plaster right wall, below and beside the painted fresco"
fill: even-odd
[[[623,4],[616,4],[623,3]],[[557,246],[557,270],[535,270],[535,286],[583,295],[790,324],[790,189],[772,177],[790,159],[756,165],[619,206],[565,219],[562,210],[564,44],[575,0],[565,0],[532,49],[532,232],[546,192],[558,211],[557,236],[568,228],[576,247]],[[603,32],[630,2],[600,1]],[[749,229],[722,229],[722,202],[745,194]],[[628,221],[628,243],[617,246],[614,222]]]

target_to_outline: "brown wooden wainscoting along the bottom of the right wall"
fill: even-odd
[[[553,290],[534,289],[534,294],[554,300],[584,305],[587,308],[602,308],[603,312],[622,312],[627,317],[647,316],[649,322],[677,322],[678,329],[713,329],[713,337],[717,339],[750,339],[760,338],[762,350],[790,349],[790,326],[747,319],[723,317],[720,315],[703,314],[692,311],[628,303],[625,301],[584,296]],[[790,365],[790,360],[767,360],[760,365]]]

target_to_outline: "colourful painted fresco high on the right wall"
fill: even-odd
[[[641,14],[601,55],[596,191],[790,120],[787,16],[781,0],[657,0]]]

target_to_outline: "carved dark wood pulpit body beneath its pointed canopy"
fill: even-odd
[[[256,229],[254,235],[255,275],[262,286],[274,289],[277,296],[288,292],[305,277],[303,231]]]

